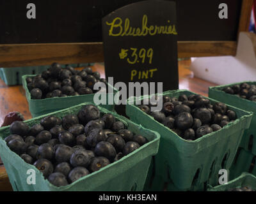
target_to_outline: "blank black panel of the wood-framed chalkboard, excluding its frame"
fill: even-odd
[[[102,41],[103,17],[140,0],[0,0],[0,44]],[[171,0],[166,0],[171,1]],[[28,3],[36,19],[28,19]],[[228,19],[218,18],[227,3]],[[179,41],[236,41],[242,0],[177,0]]]

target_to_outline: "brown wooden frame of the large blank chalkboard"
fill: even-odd
[[[237,34],[248,31],[252,4],[253,0],[243,0]],[[237,41],[178,41],[179,57],[236,55],[236,48]],[[54,61],[103,62],[102,42],[0,45],[0,67],[47,65]]]

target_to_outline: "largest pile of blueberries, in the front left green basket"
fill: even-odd
[[[118,161],[148,142],[97,106],[77,115],[47,116],[31,128],[15,121],[4,140],[26,163],[33,164],[54,186],[66,186]]]

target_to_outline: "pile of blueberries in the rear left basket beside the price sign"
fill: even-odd
[[[44,99],[54,97],[78,96],[93,94],[93,86],[97,82],[107,84],[106,79],[100,78],[100,73],[92,71],[92,68],[84,68],[82,71],[54,62],[47,71],[36,77],[27,77],[28,90],[31,99]]]

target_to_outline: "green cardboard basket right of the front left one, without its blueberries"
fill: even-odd
[[[195,94],[186,90],[166,91],[163,96],[179,97],[180,94]],[[150,96],[142,96],[139,101]],[[217,101],[208,98],[211,103]],[[250,125],[252,113],[228,106],[238,119],[224,128],[202,136],[195,141],[187,141],[166,128],[153,117],[144,113],[129,98],[126,114],[145,128],[161,135],[159,153],[152,159],[152,165],[145,184],[147,191],[203,191],[207,185],[216,186],[218,171],[229,169],[236,155],[244,130]],[[135,103],[134,103],[135,104]]]

